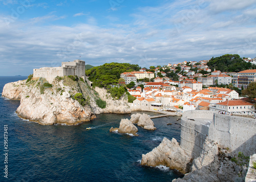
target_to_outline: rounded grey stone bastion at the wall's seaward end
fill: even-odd
[[[209,132],[209,125],[214,112],[186,111],[181,118],[180,146],[192,157],[199,157],[204,141]]]

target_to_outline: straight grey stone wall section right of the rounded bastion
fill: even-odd
[[[235,153],[256,153],[256,120],[215,114],[209,128],[209,139]]]

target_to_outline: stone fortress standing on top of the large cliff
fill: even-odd
[[[73,62],[62,62],[59,67],[42,67],[33,69],[33,77],[44,77],[50,84],[56,76],[76,75],[85,80],[86,62],[74,60]]]

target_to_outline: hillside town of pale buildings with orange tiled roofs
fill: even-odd
[[[209,60],[168,64],[163,67],[142,68],[123,72],[120,77],[128,92],[136,97],[131,107],[136,110],[167,110],[184,112],[210,110],[223,114],[251,115],[255,118],[254,103],[240,97],[239,91],[256,82],[256,69],[240,72],[221,72],[207,66]],[[256,59],[245,62],[256,64]],[[175,73],[178,77],[166,76]],[[236,88],[234,90],[233,88]]]

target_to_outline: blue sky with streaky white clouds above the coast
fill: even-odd
[[[256,0],[0,0],[0,75],[81,59],[141,67],[256,57]]]

